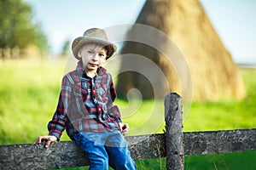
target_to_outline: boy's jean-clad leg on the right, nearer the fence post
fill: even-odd
[[[113,132],[105,144],[109,157],[109,165],[114,169],[135,170],[137,166],[131,158],[130,150],[124,136],[119,131]]]

